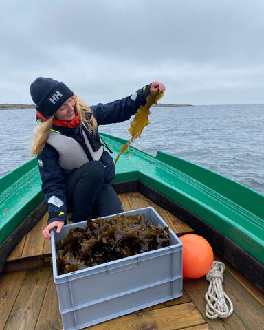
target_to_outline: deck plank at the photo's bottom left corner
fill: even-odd
[[[5,322],[8,321],[8,317],[12,310],[12,307],[17,299],[21,285],[25,279],[26,272],[16,272],[12,274],[1,274],[0,277],[0,311],[1,322],[0,330],[5,327]],[[16,329],[16,328],[14,328]]]

